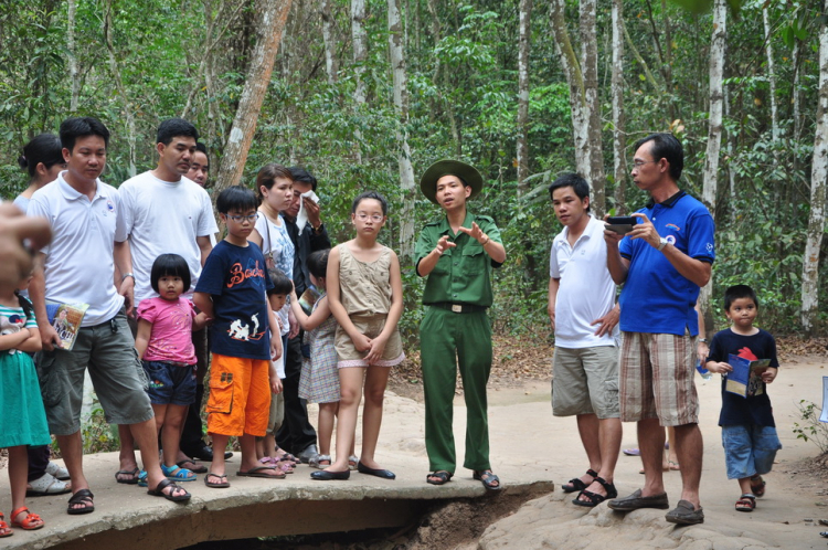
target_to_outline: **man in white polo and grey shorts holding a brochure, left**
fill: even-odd
[[[107,422],[129,424],[141,448],[148,486],[152,487],[149,493],[176,501],[190,498],[163,476],[158,461],[156,421],[126,318],[126,309],[131,309],[132,279],[120,200],[115,188],[98,179],[106,166],[108,141],[109,130],[95,118],[64,120],[61,145],[66,170],[54,184],[34,193],[28,210],[30,216],[49,220],[53,234],[52,242],[38,254],[30,296],[43,340],[35,361],[38,376],[50,431],[57,437],[72,478],[67,508],[72,515],[95,509],[83,473],[81,438],[87,368]],[[116,264],[126,274],[120,288],[113,284]],[[89,305],[71,351],[60,347],[61,339],[46,315],[46,299]]]

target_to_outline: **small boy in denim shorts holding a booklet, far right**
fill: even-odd
[[[753,326],[758,313],[756,294],[747,285],[731,286],[724,292],[724,311],[731,327],[716,332],[710,342],[707,368],[722,374],[722,445],[728,466],[728,479],[739,479],[742,496],[736,510],[753,511],[756,497],[765,494],[762,474],[773,467],[776,451],[782,448],[776,435],[773,408],[765,384],[776,378],[779,362],[776,359],[776,341],[767,331]],[[745,398],[725,390],[729,355],[751,361],[769,359],[771,364],[758,377],[751,374]]]

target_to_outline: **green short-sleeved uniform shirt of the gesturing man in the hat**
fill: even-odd
[[[502,244],[500,230],[491,218],[466,212],[463,226],[471,229],[473,222],[477,222],[489,239]],[[437,241],[443,235],[448,235],[448,240],[457,246],[446,248],[437,265],[428,274],[423,304],[450,302],[482,307],[491,306],[491,268],[500,267],[501,264],[491,260],[482,245],[466,233],[458,231],[456,235],[453,235],[445,215],[423,228],[414,248],[415,265],[420,265],[420,261],[437,246]]]

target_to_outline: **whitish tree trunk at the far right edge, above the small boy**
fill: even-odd
[[[822,12],[828,13],[828,0]],[[825,233],[826,179],[828,179],[828,24],[819,28],[819,93],[817,130],[814,137],[814,161],[810,171],[810,215],[803,257],[803,309],[805,334],[811,336],[817,328],[819,306],[819,251]]]

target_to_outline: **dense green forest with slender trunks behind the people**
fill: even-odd
[[[635,211],[648,197],[629,178],[633,144],[672,131],[680,184],[716,220],[716,328],[724,287],[745,283],[763,327],[825,332],[828,0],[708,3],[4,0],[1,192],[26,187],[22,146],[67,116],[109,127],[103,179],[115,186],[155,167],[159,121],[182,116],[209,147],[213,190],[253,186],[272,161],[308,168],[335,243],[351,234],[358,192],[385,193],[381,240],[403,261],[414,345],[411,253],[438,214],[416,181],[463,159],[486,180],[471,208],[495,218],[509,253],[496,329],[545,338],[561,230],[546,186],[578,171],[596,213]]]

